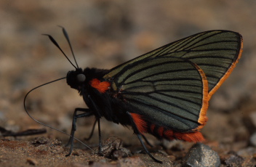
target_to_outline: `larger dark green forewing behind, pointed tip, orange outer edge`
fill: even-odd
[[[230,75],[242,52],[239,33],[210,30],[172,42],[113,68],[104,78],[115,78],[127,65],[152,57],[183,57],[204,70],[209,84],[209,97]]]

